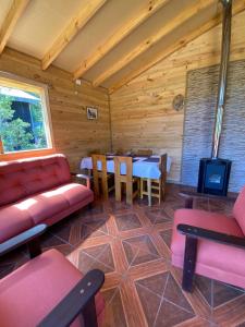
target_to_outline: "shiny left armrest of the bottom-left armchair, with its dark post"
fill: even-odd
[[[40,254],[40,247],[37,243],[38,237],[44,234],[44,232],[47,230],[48,226],[45,223],[37,225],[21,234],[11,238],[10,240],[3,242],[0,244],[0,256],[15,250],[16,247],[28,244],[30,257],[34,257],[38,254]]]

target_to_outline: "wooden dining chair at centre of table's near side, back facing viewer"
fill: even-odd
[[[121,173],[121,165],[125,165],[125,174]],[[132,157],[114,157],[115,201],[122,199],[122,183],[126,186],[126,203],[133,204],[133,199],[139,191],[139,179],[133,178]],[[135,183],[137,183],[136,191],[133,187]]]

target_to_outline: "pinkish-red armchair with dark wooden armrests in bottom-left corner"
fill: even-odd
[[[73,327],[94,327],[97,322],[101,325],[105,302],[98,290],[105,280],[103,272],[91,270],[83,277],[57,250],[39,254],[36,237],[45,229],[45,225],[36,226],[0,245],[1,256],[30,242],[30,254],[37,255],[0,280],[0,326],[62,327],[72,323]]]

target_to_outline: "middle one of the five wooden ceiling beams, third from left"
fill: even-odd
[[[83,60],[74,72],[74,80],[82,77],[91,66],[101,60],[110,50],[112,50],[120,41],[122,41],[128,34],[131,34],[137,26],[143,24],[148,17],[156,13],[160,8],[166,5],[170,0],[154,0],[149,1],[137,15],[131,19],[125,25],[119,28],[112,36],[110,36],[105,44],[97,48],[97,50]]]

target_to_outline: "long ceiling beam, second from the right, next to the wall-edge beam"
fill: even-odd
[[[126,53],[122,59],[118,60],[114,64],[110,65],[108,70],[102,72],[94,82],[93,85],[96,87],[100,84],[102,84],[106,80],[108,80],[110,76],[122,70],[124,66],[126,66],[130,62],[132,62],[134,59],[143,55],[145,51],[147,51],[149,48],[151,48],[154,45],[156,45],[159,40],[161,40],[163,37],[169,35],[171,32],[186,23],[192,17],[196,16],[199,12],[203,10],[209,8],[211,4],[213,4],[217,0],[206,0],[206,1],[197,1],[192,7],[186,8],[184,11],[182,11],[180,14],[177,14],[173,20],[171,20],[169,23],[164,24],[162,28],[158,29],[156,34],[147,37],[144,39],[138,46],[136,46],[132,51]]]

